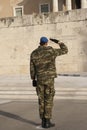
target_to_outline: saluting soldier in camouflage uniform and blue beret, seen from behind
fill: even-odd
[[[56,39],[50,39],[59,45],[54,49],[48,46],[46,37],[40,38],[40,46],[30,56],[30,75],[33,85],[36,85],[38,95],[39,114],[43,128],[55,126],[50,122],[52,118],[53,98],[55,95],[54,78],[57,77],[55,59],[68,52],[67,46]]]

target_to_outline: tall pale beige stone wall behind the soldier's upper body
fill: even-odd
[[[87,71],[86,12],[81,9],[0,19],[0,75],[28,74],[30,53],[41,36],[57,38],[68,46],[69,53],[56,59],[58,73]]]

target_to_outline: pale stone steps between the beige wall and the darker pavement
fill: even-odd
[[[55,99],[87,100],[87,73],[61,74],[55,79]],[[0,103],[3,100],[37,100],[28,75],[0,76]]]

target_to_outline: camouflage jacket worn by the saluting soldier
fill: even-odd
[[[50,46],[39,46],[30,56],[31,79],[43,79],[57,76],[55,59],[57,56],[66,54],[68,48],[64,43],[59,44],[60,48],[54,49]]]

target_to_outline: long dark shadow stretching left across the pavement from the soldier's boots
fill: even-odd
[[[31,121],[31,120],[24,119],[24,118],[22,118],[22,117],[20,117],[20,116],[18,116],[16,114],[12,114],[12,113],[5,112],[5,111],[2,111],[2,110],[0,110],[0,115],[8,117],[8,118],[12,118],[12,119],[24,122],[24,123],[29,123],[29,124],[32,124],[32,125],[35,125],[35,126],[40,125],[40,124],[37,124],[37,123],[35,123],[35,122]]]

